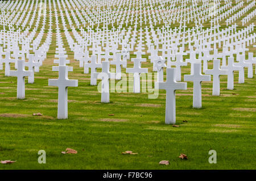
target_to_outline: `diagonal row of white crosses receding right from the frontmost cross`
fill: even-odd
[[[252,78],[253,64],[256,64],[256,58],[253,57],[253,53],[249,53],[249,61],[245,62],[245,55],[240,54],[238,57],[238,63],[234,64],[234,58],[228,58],[228,65],[221,66],[220,60],[213,60],[213,69],[205,70],[206,74],[201,74],[201,61],[195,58],[190,59],[191,62],[191,75],[184,75],[184,81],[193,81],[193,107],[201,108],[201,82],[210,81],[210,75],[213,75],[213,95],[220,95],[220,75],[228,75],[228,89],[234,89],[234,71],[238,70],[240,73],[239,83],[244,82],[244,68],[248,68],[248,78]],[[162,57],[159,58],[161,60]],[[193,65],[193,66],[192,66]],[[167,68],[166,82],[159,82],[159,89],[167,91],[166,95],[166,124],[175,124],[175,91],[186,89],[186,85],[182,85],[176,82],[176,70],[179,68]]]

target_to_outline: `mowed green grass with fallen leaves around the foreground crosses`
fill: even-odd
[[[192,108],[188,82],[188,90],[176,91],[180,127],[175,128],[164,124],[165,91],[158,99],[148,99],[151,93],[115,92],[109,104],[101,103],[90,75],[69,58],[74,69],[69,79],[78,79],[79,87],[68,88],[68,119],[57,120],[57,87],[48,86],[48,78],[58,77],[51,71],[53,52],[50,48],[34,84],[26,78],[24,100],[16,99],[16,78],[0,71],[0,160],[16,161],[0,169],[256,169],[255,75],[238,84],[236,73],[233,91],[226,90],[227,77],[221,76],[221,96],[212,96],[212,82],[203,82],[201,109]],[[152,70],[148,61],[142,67]],[[189,74],[189,66],[182,72]],[[32,116],[37,112],[43,116]],[[78,153],[61,154],[66,148]],[[208,162],[212,149],[217,164]],[[46,164],[38,163],[39,150],[46,151]],[[138,154],[123,155],[126,150]],[[178,158],[181,153],[188,160]],[[170,165],[159,165],[162,160]]]

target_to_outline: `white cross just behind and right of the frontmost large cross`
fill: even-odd
[[[193,81],[193,108],[202,107],[202,90],[201,82],[210,81],[210,75],[201,74],[201,64],[196,63],[193,66],[192,75],[184,75],[184,81]]]

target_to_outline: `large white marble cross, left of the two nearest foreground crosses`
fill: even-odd
[[[49,79],[49,86],[59,87],[58,94],[58,119],[68,118],[68,87],[77,87],[77,80],[68,79],[68,66],[59,66],[59,78]]]

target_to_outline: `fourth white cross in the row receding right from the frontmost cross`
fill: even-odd
[[[228,65],[221,66],[221,69],[228,70],[228,85],[227,89],[233,90],[234,89],[234,71],[242,69],[241,66],[234,65],[234,57],[228,58]]]

